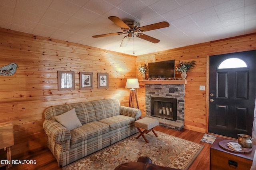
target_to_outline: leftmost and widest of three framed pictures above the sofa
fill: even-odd
[[[75,90],[74,71],[58,71],[58,90]]]

